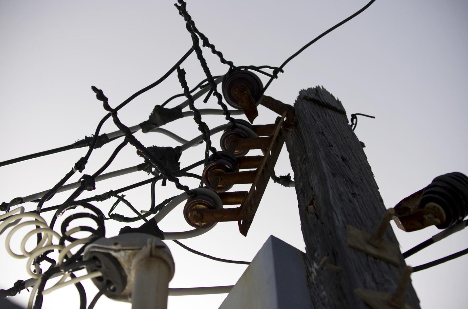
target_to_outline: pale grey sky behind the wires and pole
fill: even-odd
[[[190,48],[190,35],[174,1],[0,1],[0,103],[2,112],[0,161],[68,145],[94,132],[105,115],[90,86],[103,89],[116,106],[135,91],[157,80]],[[235,65],[279,66],[312,38],[363,7],[367,1],[188,1],[187,9],[200,29],[226,59]],[[366,143],[387,207],[452,171],[468,174],[465,120],[468,108],[468,3],[462,0],[377,0],[351,22],[331,32],[285,66],[267,95],[293,103],[302,88],[323,85],[337,96],[348,115],[360,112],[356,134]],[[227,72],[208,49],[203,49],[212,74]],[[183,63],[190,87],[204,79],[195,54]],[[265,82],[266,79],[261,77]],[[176,74],[160,87],[139,96],[119,112],[126,125],[145,120],[153,106],[180,93]],[[180,101],[172,103],[170,106]],[[214,99],[198,108],[215,108]],[[275,115],[260,108],[258,124]],[[210,127],[224,123],[220,116],[204,117]],[[189,119],[166,126],[186,139],[197,134]],[[102,133],[115,131],[111,120]],[[147,146],[176,146],[157,133],[137,137]],[[215,147],[219,135],[213,136]],[[85,173],[99,168],[117,144],[95,150]],[[0,168],[1,201],[42,191],[56,184],[85,149]],[[202,147],[184,153],[181,166],[201,158]],[[108,171],[140,163],[127,146]],[[286,149],[278,174],[291,172]],[[75,175],[72,180],[80,176]],[[98,184],[89,196],[145,179],[136,173]],[[191,187],[196,181],[182,178]],[[242,187],[238,188],[243,190]],[[157,200],[176,193],[174,186],[157,186]],[[67,197],[58,194],[45,206]],[[86,195],[84,195],[86,197]],[[149,186],[128,192],[137,209],[146,209]],[[100,205],[107,210],[113,201]],[[25,204],[27,210],[34,206]],[[125,213],[119,206],[120,213]],[[181,206],[179,206],[181,208]],[[161,229],[187,229],[176,208]],[[50,220],[51,213],[44,214]],[[109,223],[109,222],[107,222]],[[138,224],[135,224],[137,226]],[[108,236],[120,223],[111,222]],[[405,234],[396,231],[402,251],[433,234],[437,228]],[[229,259],[251,260],[269,235],[304,250],[297,200],[293,188],[270,183],[244,237],[237,224],[220,223],[214,230],[186,240],[196,250]],[[468,231],[453,235],[407,260],[420,265],[466,248]],[[5,235],[0,237],[3,242]],[[176,262],[170,287],[234,284],[245,266],[198,257],[168,242]],[[26,279],[25,260],[1,251],[0,288]],[[468,256],[413,274],[422,308],[465,308],[468,302]],[[86,282],[85,282],[86,284]],[[88,299],[97,292],[88,280]],[[23,305],[29,293],[14,299]],[[217,308],[225,295],[174,296],[169,308]],[[77,308],[77,292],[67,287],[47,295],[44,309]],[[130,308],[105,297],[96,308]],[[67,306],[68,307],[68,306]]]

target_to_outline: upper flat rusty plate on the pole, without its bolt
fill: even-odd
[[[367,242],[371,236],[371,233],[348,225],[348,247],[364,252],[392,265],[399,266],[400,249],[398,245],[384,240],[380,247],[377,248]]]

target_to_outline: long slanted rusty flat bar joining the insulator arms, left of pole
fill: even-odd
[[[247,236],[250,225],[254,220],[258,205],[262,200],[263,193],[265,192],[268,181],[270,180],[271,175],[273,175],[273,169],[275,168],[279,153],[281,152],[281,148],[283,147],[283,144],[286,140],[288,129],[283,127],[283,123],[285,123],[287,115],[288,112],[285,111],[283,116],[281,116],[279,119],[275,131],[271,135],[270,146],[265,152],[263,160],[257,169],[255,180],[250,187],[250,191],[247,194],[247,197],[241,205],[239,231],[244,236]]]

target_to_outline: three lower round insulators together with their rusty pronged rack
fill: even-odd
[[[191,226],[205,228],[214,222],[238,221],[241,234],[247,235],[286,140],[287,127],[290,127],[285,121],[286,115],[293,117],[285,112],[271,125],[250,125],[236,120],[234,127],[224,132],[220,140],[223,151],[210,157],[203,171],[203,181],[219,195],[223,205],[240,206],[215,208],[208,197],[189,199],[184,217]],[[245,156],[253,149],[262,150],[263,155]],[[228,192],[234,184],[252,185],[249,192]]]

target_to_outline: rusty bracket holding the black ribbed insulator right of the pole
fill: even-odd
[[[419,203],[423,197],[424,189],[402,199],[396,206],[393,220],[398,228],[405,232],[417,231],[431,225],[444,223],[446,215],[441,206],[428,203],[420,208]]]

